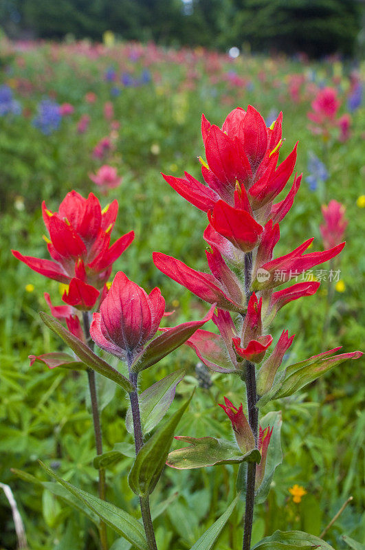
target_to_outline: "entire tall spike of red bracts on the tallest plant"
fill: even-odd
[[[212,320],[220,335],[198,330],[187,344],[210,369],[222,373],[243,370],[244,360],[262,363],[273,342],[267,329],[279,309],[303,296],[315,294],[318,281],[303,281],[277,292],[274,288],[288,283],[316,265],[339,254],[344,243],[333,243],[323,252],[305,251],[313,239],[295,250],[273,259],[280,239],[279,223],[289,212],[300,186],[295,175],[287,196],[274,203],[284,190],[296,163],[296,146],[278,164],[283,145],[282,120],[266,127],[254,107],[234,109],[223,126],[210,124],[203,115],[201,131],[206,161],[201,159],[201,173],[206,184],[186,173],[185,178],[164,179],[193,205],[208,214],[203,234],[209,245],[206,252],[210,273],[197,272],[181,261],[155,252],[153,261],[164,274],[208,303],[216,303]],[[322,232],[324,230],[322,229]],[[243,272],[245,255],[252,254],[250,294]],[[244,322],[230,316],[241,314]],[[267,393],[294,336],[283,331],[276,347],[258,373],[258,395]]]

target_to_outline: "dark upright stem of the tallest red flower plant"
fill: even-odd
[[[250,299],[250,287],[252,283],[252,252],[245,254],[245,294],[248,304]],[[256,394],[256,371],[254,363],[246,361],[245,363],[246,374],[246,394],[247,394],[247,408],[248,408],[248,421],[250,428],[254,434],[255,443],[257,446],[258,436],[258,408],[256,407],[257,394]],[[255,477],[256,477],[256,463],[249,462],[247,465],[247,479],[246,479],[246,505],[245,505],[245,523],[243,527],[243,550],[250,550],[251,547],[251,535],[252,535],[252,522],[254,519],[254,497],[255,497]]]

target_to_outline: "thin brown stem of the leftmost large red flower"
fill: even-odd
[[[90,338],[90,321],[89,314],[87,311],[82,311],[82,320],[84,322],[84,333],[87,345],[90,349],[93,349],[93,341]],[[89,380],[89,391],[91,399],[91,410],[93,415],[93,430],[95,433],[95,443],[96,443],[96,454],[102,454],[102,432],[100,426],[100,415],[98,408],[98,393],[96,391],[96,380],[95,380],[95,371],[92,369],[87,369],[87,378]],[[98,494],[101,500],[105,500],[105,470],[103,468],[99,469],[99,485],[98,485]],[[100,520],[99,525],[100,531],[100,543],[102,550],[108,549],[107,542],[107,525]]]

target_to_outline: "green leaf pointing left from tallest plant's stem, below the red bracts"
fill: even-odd
[[[243,461],[261,461],[261,454],[252,449],[242,454],[236,443],[217,437],[177,436],[175,439],[190,443],[189,447],[177,449],[168,454],[166,464],[177,470],[190,470],[219,464],[237,464]]]

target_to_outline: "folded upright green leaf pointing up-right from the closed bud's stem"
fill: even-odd
[[[139,496],[146,496],[153,492],[159,476],[162,474],[174,432],[192,395],[175,414],[157,430],[153,436],[143,445],[135,457],[132,470],[129,473],[129,486]]]

